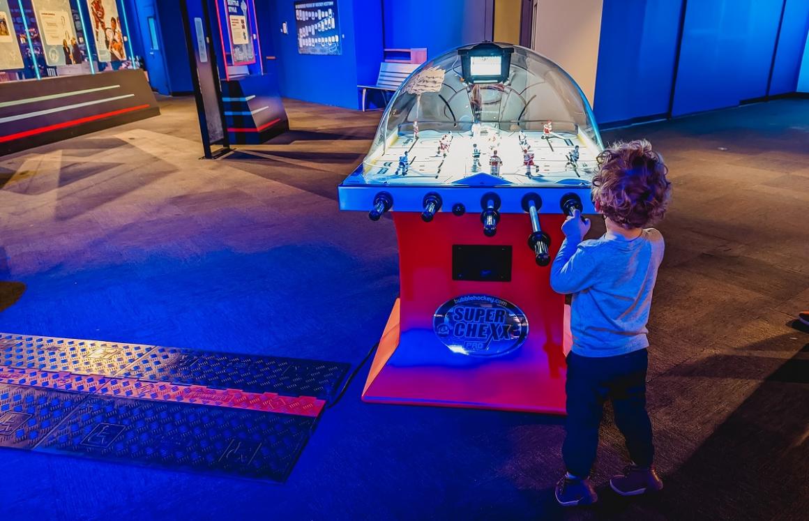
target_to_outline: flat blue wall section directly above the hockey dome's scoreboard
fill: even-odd
[[[492,0],[383,0],[385,48],[427,48],[427,57],[492,38]]]

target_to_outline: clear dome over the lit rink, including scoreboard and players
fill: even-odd
[[[487,172],[531,184],[589,181],[603,146],[582,91],[548,58],[501,45],[505,58],[466,59],[481,47],[470,46],[413,72],[384,112],[362,163],[366,180],[435,184]]]

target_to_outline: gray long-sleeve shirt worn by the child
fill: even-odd
[[[608,357],[649,345],[646,322],[663,249],[663,235],[654,228],[631,240],[607,231],[599,239],[562,242],[551,287],[573,294],[574,353]]]

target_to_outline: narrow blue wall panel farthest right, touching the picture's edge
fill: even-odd
[[[798,87],[798,66],[809,32],[809,0],[786,0],[784,23],[778,38],[769,94],[794,92]]]

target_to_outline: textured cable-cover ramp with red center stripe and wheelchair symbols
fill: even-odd
[[[0,334],[0,446],[284,481],[349,364]]]

